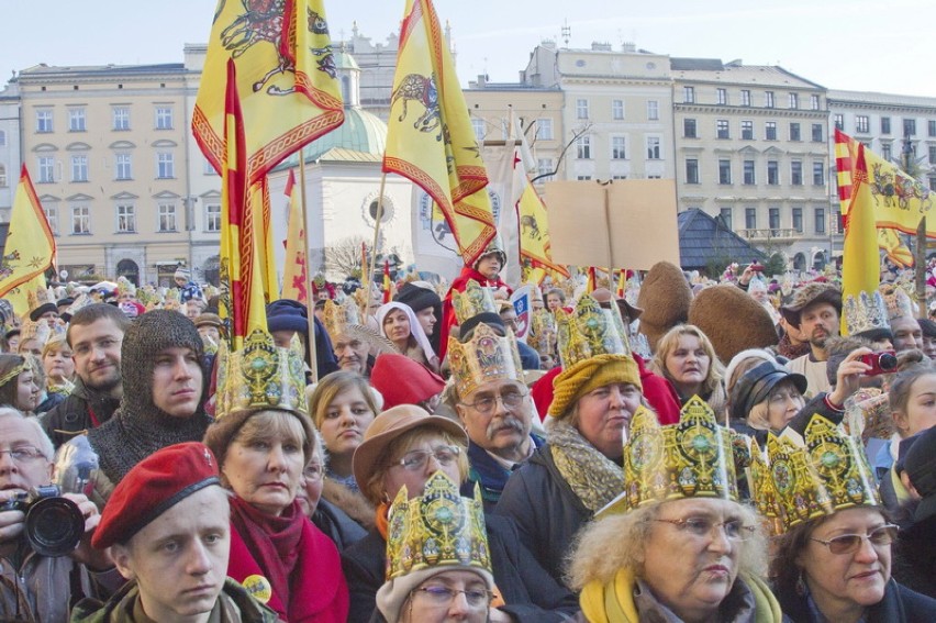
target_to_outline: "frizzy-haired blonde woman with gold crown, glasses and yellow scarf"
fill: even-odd
[[[634,416],[624,493],[584,529],[569,583],[590,622],[777,622],[767,547],[738,503],[727,429],[699,397],[679,424]]]

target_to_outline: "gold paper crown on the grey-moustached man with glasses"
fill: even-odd
[[[522,381],[523,366],[512,331],[501,337],[493,329],[478,323],[471,340],[463,344],[448,338],[448,364],[458,396],[465,398],[492,380]]]

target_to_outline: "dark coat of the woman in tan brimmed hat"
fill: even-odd
[[[554,582],[521,545],[516,526],[506,518],[486,515],[494,583],[506,605],[501,610],[520,623],[566,621],[579,611],[578,598]],[[342,552],[350,592],[349,622],[382,621],[377,590],[386,575],[387,542],[376,530]],[[372,616],[372,618],[371,618]]]

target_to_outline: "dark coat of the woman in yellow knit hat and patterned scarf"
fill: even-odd
[[[516,522],[524,545],[554,580],[566,586],[569,548],[593,515],[559,474],[548,443],[511,475],[494,513]]]

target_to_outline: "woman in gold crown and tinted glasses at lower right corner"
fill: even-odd
[[[755,500],[776,511],[783,531],[770,575],[790,620],[936,621],[936,600],[891,577],[898,527],[880,505],[860,441],[815,415],[804,442],[770,438],[768,457]]]

